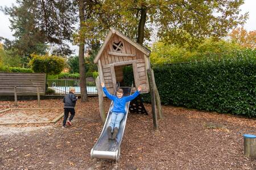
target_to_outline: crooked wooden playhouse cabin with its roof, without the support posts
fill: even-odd
[[[150,50],[134,42],[121,32],[110,28],[94,63],[98,63],[100,81],[113,94],[117,82],[123,80],[123,66],[132,65],[134,86],[142,86],[142,93],[148,93],[147,69],[150,69]]]

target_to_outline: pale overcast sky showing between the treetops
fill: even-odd
[[[0,6],[7,6],[10,7],[12,4],[15,4],[15,0],[1,0]],[[244,28],[247,31],[254,31],[256,30],[256,1],[255,0],[245,0],[245,3],[240,7],[241,8],[241,14],[245,14],[245,12],[249,12],[249,19],[247,19]],[[13,33],[11,32],[10,21],[9,16],[3,14],[2,11],[0,11],[0,37],[5,37],[9,40],[14,40]],[[75,53],[78,54],[78,47],[72,46],[71,49],[75,50]]]

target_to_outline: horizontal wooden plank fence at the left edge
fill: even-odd
[[[36,95],[39,87],[40,95],[46,93],[46,74],[44,73],[0,73],[0,95],[14,95],[14,87],[34,89],[17,89],[18,95]]]

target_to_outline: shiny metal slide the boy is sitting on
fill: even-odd
[[[116,94],[117,88],[119,87],[119,83],[115,89],[114,95]],[[122,87],[123,89],[123,95],[128,96],[131,94],[131,87]],[[101,158],[101,159],[115,159],[116,161],[120,158],[120,145],[123,138],[123,133],[125,132],[125,125],[127,120],[127,114],[129,111],[129,104],[130,101],[126,103],[125,109],[126,114],[123,117],[123,120],[120,122],[117,138],[115,140],[109,139],[107,134],[107,128],[110,124],[111,119],[111,110],[113,108],[113,101],[110,104],[108,116],[106,117],[106,121],[104,124],[104,128],[101,131],[100,137],[98,138],[98,141],[93,146],[92,150],[90,151],[90,157],[91,158]]]

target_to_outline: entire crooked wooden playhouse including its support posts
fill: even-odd
[[[123,35],[114,28],[110,28],[104,43],[102,44],[94,63],[98,64],[98,78],[96,79],[100,114],[102,121],[105,122],[105,111],[103,105],[103,96],[100,82],[105,83],[110,94],[114,94],[117,82],[122,82],[123,67],[131,65],[133,67],[134,86],[142,87],[141,94],[150,92],[152,104],[152,116],[154,128],[158,129],[156,107],[159,117],[162,116],[160,97],[155,85],[154,71],[150,68],[150,50],[134,42],[129,37]],[[135,88],[133,89],[135,91]]]

